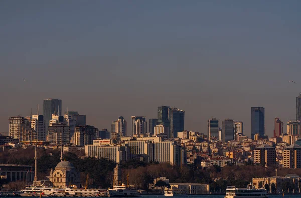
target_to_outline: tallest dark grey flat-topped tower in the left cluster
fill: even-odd
[[[60,99],[46,99],[43,102],[43,118],[45,124],[45,131],[48,134],[49,121],[52,114],[62,115],[62,100]]]

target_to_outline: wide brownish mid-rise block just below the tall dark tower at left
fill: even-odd
[[[63,145],[70,143],[70,127],[63,123],[54,123],[48,127],[46,140],[51,144]]]

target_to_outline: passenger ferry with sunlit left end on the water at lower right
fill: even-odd
[[[225,198],[268,198],[266,189],[256,189],[249,184],[247,188],[236,188],[227,186]]]

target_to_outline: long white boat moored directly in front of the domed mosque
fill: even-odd
[[[53,188],[50,191],[44,191],[49,196],[107,196],[105,189],[78,189],[75,187]]]

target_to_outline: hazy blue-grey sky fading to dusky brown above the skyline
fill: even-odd
[[[216,117],[244,122],[265,107],[295,119],[301,92],[300,1],[0,2],[0,132],[43,100],[108,128],[123,116],[185,111],[185,129]],[[26,79],[26,82],[23,81]],[[296,84],[287,81],[294,80]]]

